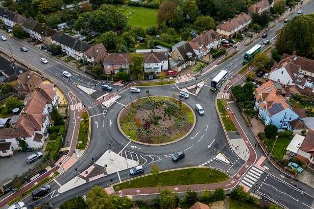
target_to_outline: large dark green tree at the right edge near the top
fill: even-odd
[[[279,54],[296,51],[302,57],[314,57],[314,14],[296,16],[280,30],[276,38]]]

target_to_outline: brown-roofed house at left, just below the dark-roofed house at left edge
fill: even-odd
[[[14,87],[19,95],[27,95],[41,84],[41,77],[33,72],[25,72],[17,75],[17,85]]]

